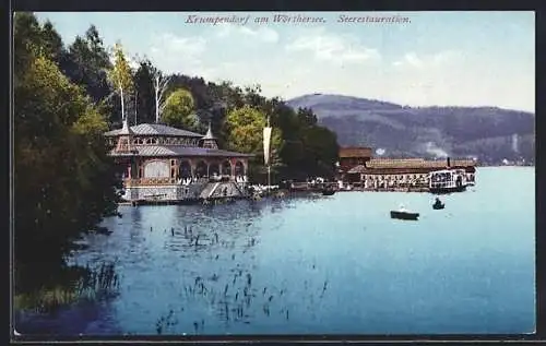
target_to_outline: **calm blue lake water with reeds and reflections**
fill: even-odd
[[[532,333],[534,167],[478,168],[476,181],[464,193],[442,196],[442,211],[431,208],[430,194],[397,192],[121,207],[122,218],[104,223],[114,234],[88,237],[90,248],[74,258],[82,264],[117,259],[119,295],[17,329]],[[419,212],[419,220],[391,219],[389,211],[401,203]]]

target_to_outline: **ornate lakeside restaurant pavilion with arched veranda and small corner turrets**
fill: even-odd
[[[105,136],[114,145],[110,155],[122,166],[127,199],[143,198],[140,192],[185,198],[190,186],[194,195],[201,193],[195,184],[203,190],[210,177],[247,181],[248,158],[252,155],[219,150],[210,126],[203,136],[158,123],[129,127],[126,120],[122,129]],[[186,187],[181,192],[180,186]]]

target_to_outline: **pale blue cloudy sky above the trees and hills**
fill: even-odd
[[[285,99],[331,93],[408,106],[497,106],[534,111],[533,12],[298,12],[325,23],[253,23],[270,12],[58,12],[66,44],[95,24],[106,45],[165,72],[260,84]],[[189,24],[188,15],[250,15],[246,25]],[[410,23],[340,23],[340,15]]]

